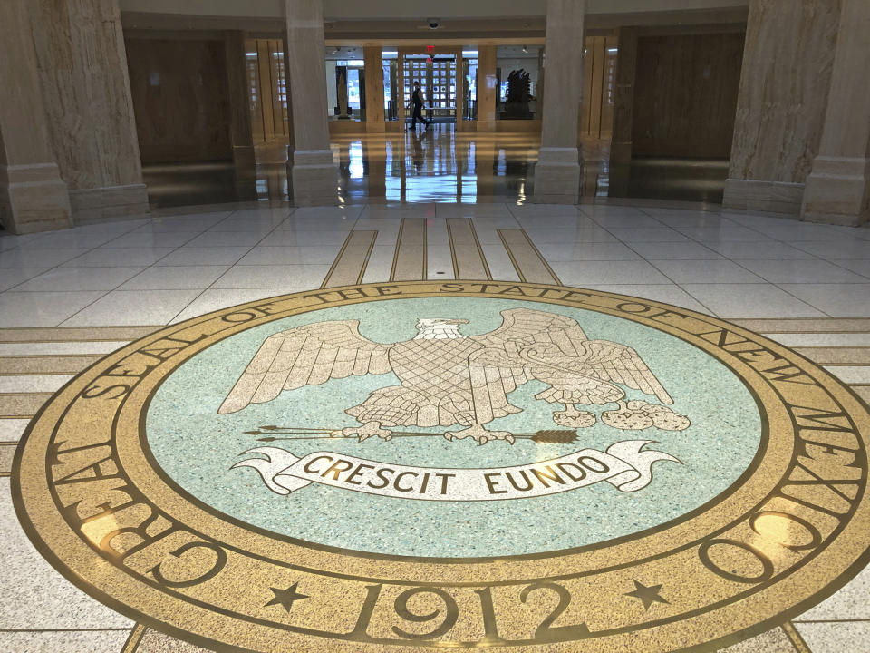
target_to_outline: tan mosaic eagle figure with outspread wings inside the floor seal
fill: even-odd
[[[444,437],[480,444],[514,442],[509,431],[489,431],[499,417],[521,413],[507,395],[536,380],[547,385],[535,395],[564,404],[556,424],[584,428],[596,416],[584,406],[617,404],[601,414],[604,424],[640,430],[657,426],[682,431],[690,421],[662,404],[673,404],[641,356],[629,346],[590,340],[571,317],[528,308],[501,311],[502,325],[482,336],[463,336],[465,319],[423,318],[418,335],[392,345],[362,336],[358,320],[317,322],[269,336],[218,409],[236,413],[249,404],[272,401],[285,390],[321,385],[350,375],[394,373],[399,385],[382,387],[353,408],[359,425],[335,435],[372,435],[389,440],[391,427],[449,427]],[[620,385],[655,396],[662,404],[629,401]]]

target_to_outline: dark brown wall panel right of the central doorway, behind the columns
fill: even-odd
[[[633,156],[730,156],[743,41],[739,33],[638,39]]]

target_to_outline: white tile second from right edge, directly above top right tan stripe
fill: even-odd
[[[681,284],[681,287],[720,317],[826,317],[770,284]]]

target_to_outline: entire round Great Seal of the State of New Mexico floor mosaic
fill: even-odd
[[[103,358],[28,427],[14,499],[82,590],[211,648],[713,650],[865,566],[868,433],[715,317],[391,282]]]

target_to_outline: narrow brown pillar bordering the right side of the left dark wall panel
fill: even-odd
[[[227,54],[229,138],[233,147],[233,161],[237,168],[250,168],[255,164],[256,158],[254,132],[251,128],[251,89],[247,79],[245,34],[239,30],[227,32],[224,45]]]

